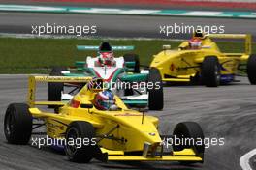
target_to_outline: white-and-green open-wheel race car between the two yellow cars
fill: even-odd
[[[85,61],[77,61],[75,70],[54,67],[49,75],[102,78],[125,104],[139,108],[148,106],[150,110],[163,109],[163,87],[159,72],[154,69],[149,72],[140,71],[140,60],[136,54],[127,53],[120,57],[113,54],[114,51],[133,50],[134,46],[111,46],[110,43],[103,42],[100,46],[78,45],[77,48],[95,50],[98,55],[87,56]],[[48,100],[71,99],[83,85],[48,83]]]

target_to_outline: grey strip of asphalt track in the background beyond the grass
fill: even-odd
[[[96,25],[98,37],[188,39],[190,34],[160,34],[160,25],[225,26],[225,33],[249,33],[256,37],[256,19],[193,18],[171,16],[101,14],[0,13],[0,33],[31,34],[32,25]]]

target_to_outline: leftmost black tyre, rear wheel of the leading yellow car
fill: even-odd
[[[32,116],[24,103],[10,104],[6,110],[4,132],[8,143],[26,145],[32,133]]]

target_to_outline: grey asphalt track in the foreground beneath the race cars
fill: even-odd
[[[183,166],[176,162],[109,162],[93,160],[90,164],[69,162],[66,156],[49,148],[16,146],[7,144],[0,127],[0,169],[183,169],[183,170],[240,170],[240,156],[255,148],[256,96],[255,86],[247,78],[218,88],[203,86],[165,87],[163,111],[150,111],[160,118],[162,134],[170,134],[178,122],[198,122],[206,137],[225,138],[224,146],[210,146],[206,150],[205,163]],[[38,88],[39,99],[46,99],[47,86]],[[0,76],[0,122],[8,104],[25,102],[27,75]]]

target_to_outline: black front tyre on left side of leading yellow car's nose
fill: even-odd
[[[69,160],[88,163],[96,152],[95,129],[88,122],[77,121],[70,124],[66,131],[65,153]],[[85,144],[74,145],[70,141],[85,140]],[[89,142],[88,142],[89,141]]]

